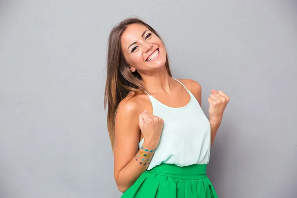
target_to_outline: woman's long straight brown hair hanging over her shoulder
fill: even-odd
[[[130,71],[129,65],[126,62],[121,49],[121,36],[126,28],[134,23],[146,26],[152,33],[161,39],[161,37],[152,27],[150,27],[141,19],[135,17],[127,18],[121,21],[112,28],[109,34],[104,109],[106,109],[106,105],[108,103],[107,130],[109,133],[112,151],[114,148],[115,114],[118,104],[122,99],[127,97],[130,92],[134,92],[132,97],[135,97],[139,94],[143,94],[143,90],[146,90],[145,85],[142,82],[141,75],[137,71]],[[171,77],[172,75],[169,68],[168,54],[166,54],[165,66],[169,76]]]

